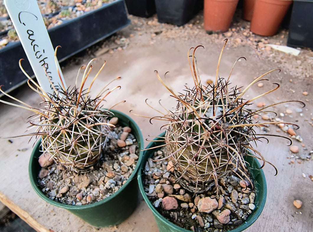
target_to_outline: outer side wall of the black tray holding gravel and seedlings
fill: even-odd
[[[130,24],[123,0],[104,4],[78,18],[64,21],[59,26],[48,29],[53,47],[58,49],[59,62],[90,47]],[[4,91],[10,91],[27,82],[27,77],[18,67],[18,61],[24,59],[22,66],[28,75],[33,70],[28,62],[21,42],[9,43],[0,49],[0,85]],[[1,96],[1,95],[0,95]]]

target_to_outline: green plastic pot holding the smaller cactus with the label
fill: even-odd
[[[38,172],[41,167],[38,163],[38,157],[42,154],[39,151],[40,141],[35,145],[30,157],[28,173],[29,179],[35,192],[46,202],[63,209],[67,209],[72,214],[75,214],[85,222],[96,227],[109,227],[121,223],[128,218],[136,209],[138,203],[138,182],[136,174],[139,169],[139,164],[142,160],[143,137],[138,125],[126,114],[119,111],[110,110],[115,117],[119,118],[121,126],[129,126],[132,133],[136,137],[139,147],[139,158],[135,170],[130,175],[127,182],[110,197],[88,205],[67,205],[49,199],[42,191],[38,184]]]

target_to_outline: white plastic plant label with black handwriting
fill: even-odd
[[[63,89],[61,77],[66,89],[59,62],[54,60],[54,49],[37,1],[4,0],[4,5],[41,88],[46,93],[53,93],[53,83],[57,90]]]

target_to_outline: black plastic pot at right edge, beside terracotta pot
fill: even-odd
[[[313,49],[313,0],[294,0],[287,46]]]

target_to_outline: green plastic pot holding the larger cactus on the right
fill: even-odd
[[[164,137],[164,136],[165,136],[165,133],[162,133],[158,137]],[[164,139],[163,138],[154,139],[154,141],[152,141],[146,147],[146,149],[160,146],[160,145],[164,144],[164,142],[160,142],[158,140],[164,140]],[[137,176],[140,192],[142,194],[143,199],[146,201],[147,205],[151,209],[153,216],[156,220],[156,225],[159,228],[160,232],[190,232],[190,230],[183,229],[183,228],[171,223],[166,218],[164,218],[162,216],[162,214],[160,214],[154,208],[154,206],[151,204],[151,202],[149,201],[149,199],[145,193],[145,190],[143,188],[143,186],[144,186],[143,174],[144,174],[144,169],[145,169],[147,159],[151,158],[152,155],[154,154],[154,152],[157,151],[158,149],[160,149],[160,148],[155,148],[155,149],[150,149],[150,150],[144,151],[142,163],[140,165],[140,169],[138,171],[138,176]],[[248,219],[243,224],[241,224],[236,229],[230,230],[232,232],[244,231],[250,225],[252,225],[255,222],[255,220],[260,216],[260,214],[264,208],[265,201],[266,201],[266,192],[267,192],[266,180],[265,180],[263,170],[259,169],[260,164],[259,164],[258,160],[253,158],[253,157],[250,157],[250,156],[246,157],[245,160],[250,164],[248,169],[251,173],[251,176],[252,176],[252,179],[254,182],[254,188],[256,191],[255,209],[252,211],[252,214],[249,215]]]

